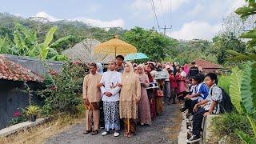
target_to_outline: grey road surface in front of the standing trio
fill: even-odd
[[[82,134],[84,123],[80,122],[60,134],[46,140],[46,144],[72,143],[72,144],[125,144],[125,143],[173,143],[178,138],[178,131],[182,122],[182,115],[178,105],[166,105],[165,113],[154,120],[152,126],[138,126],[133,138],[125,138],[123,133],[118,138],[113,134],[101,136]]]

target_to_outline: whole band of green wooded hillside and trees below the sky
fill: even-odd
[[[79,21],[61,20],[57,22],[49,22],[40,18],[22,18],[7,13],[0,13],[0,53],[18,54],[18,52],[16,52],[17,48],[21,46],[22,43],[17,41],[17,35],[16,40],[14,38],[15,33],[17,33],[17,23],[24,26],[26,30],[36,34],[36,41],[28,41],[25,34],[26,30],[25,33],[20,34],[24,42],[26,44],[28,43],[30,47],[33,47],[34,42],[44,42],[47,32],[53,26],[58,26],[58,30],[54,32],[52,42],[57,41],[60,38],[62,39],[72,36],[72,38],[62,39],[63,41],[59,42],[58,45],[52,46],[58,54],[60,54],[62,50],[66,50],[67,48],[74,46],[75,43],[81,42],[85,38],[94,38],[100,42],[105,42],[106,40],[113,38],[114,34],[118,34],[122,40],[137,46],[139,52],[145,53],[150,57],[149,60],[156,61],[178,61],[183,64],[191,62],[196,58],[203,58],[210,62],[223,64],[227,56],[226,50],[236,50],[242,53],[246,50],[245,42],[242,42],[235,35],[233,32],[234,30],[226,30],[220,34],[216,34],[212,42],[202,39],[178,41],[174,38],[158,33],[155,30],[147,30],[137,26],[130,30],[125,30],[121,27],[104,29],[90,26]],[[18,30],[18,33],[21,31],[22,30]],[[7,40],[4,42],[5,37],[7,37]],[[33,38],[34,37],[32,37],[32,39]],[[6,48],[6,46],[9,46],[9,48]],[[20,50],[20,48],[18,50]],[[53,58],[53,55],[56,55],[56,52],[53,51],[50,52],[50,56],[47,56],[46,58]],[[38,52],[35,53],[34,57],[38,57]],[[63,59],[59,55],[57,57],[57,59]],[[54,56],[54,58],[56,57]]]

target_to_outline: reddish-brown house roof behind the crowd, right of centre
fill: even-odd
[[[204,73],[216,72],[218,70],[222,70],[222,68],[223,68],[222,66],[220,66],[214,62],[209,62],[202,58],[195,59],[193,62],[195,62],[196,66],[198,66],[198,69]],[[189,65],[189,66],[191,67],[191,65]]]

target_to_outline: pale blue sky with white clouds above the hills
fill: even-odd
[[[154,9],[152,3],[154,2]],[[222,28],[222,19],[245,0],[0,0],[0,12],[49,21],[78,20],[91,26],[141,26],[177,39],[211,40]],[[154,14],[157,15],[158,24]]]

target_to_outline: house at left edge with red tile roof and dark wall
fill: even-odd
[[[30,100],[42,102],[42,98],[34,94],[30,99],[26,90],[28,87],[39,89],[43,81],[42,75],[0,55],[0,129],[8,126],[13,114],[28,106]]]

